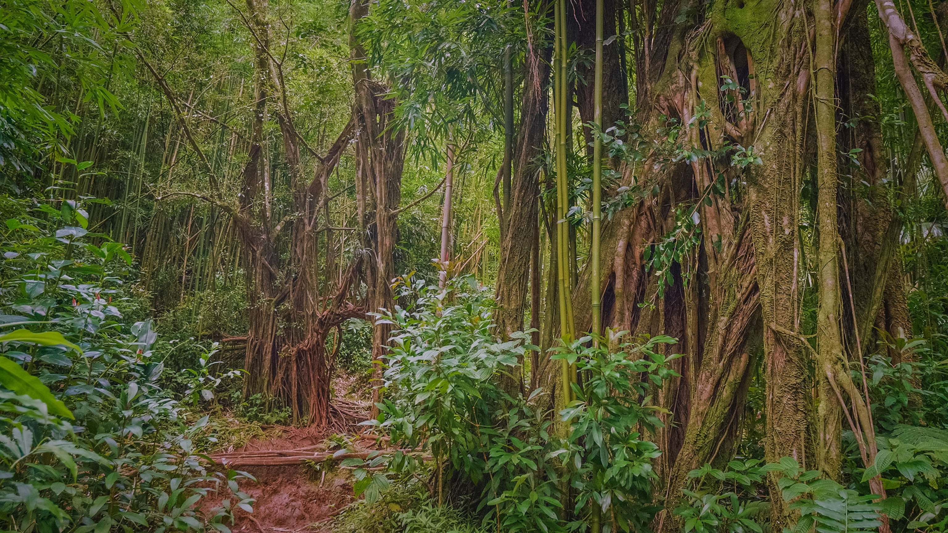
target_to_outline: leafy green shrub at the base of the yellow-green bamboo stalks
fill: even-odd
[[[615,339],[624,334],[615,334]],[[658,511],[651,505],[651,460],[661,455],[640,432],[663,426],[656,415],[662,410],[648,404],[665,379],[677,376],[666,364],[679,357],[665,357],[655,348],[677,340],[643,339],[620,344],[617,351],[609,350],[605,339],[585,346],[590,340],[574,340],[551,357],[575,364],[583,377],[582,385],[573,384],[576,399],[559,413],[570,432],[553,455],[569,470],[577,517],[588,521],[585,513],[597,505],[603,516],[614,517],[604,524],[604,532],[611,531],[611,524],[622,531],[633,525],[639,529]]]

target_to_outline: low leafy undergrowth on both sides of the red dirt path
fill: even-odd
[[[262,424],[287,414],[241,395],[243,373],[222,367],[219,345],[159,337],[132,258],[87,229],[81,204],[58,204],[3,196],[4,527],[228,531],[234,510],[253,504],[236,483],[248,474],[209,469],[202,453],[262,436]],[[773,530],[768,476],[802,516],[794,531],[872,529],[879,513],[893,531],[948,524],[937,313],[927,337],[889,338],[869,358],[880,447],[870,469],[848,432],[842,479],[743,456],[692,471],[681,494],[662,498],[651,471],[662,450],[649,440],[662,420],[650,398],[674,377],[674,356],[663,354],[675,340],[556,348],[551,358],[581,378],[553,413],[549,391],[504,390],[499,377],[538,347],[530,332],[494,337],[490,292],[473,277],[444,289],[407,277],[398,292],[405,307],[377,317],[392,323],[393,346],[380,414],[366,425],[410,451],[342,462],[361,500],[337,518],[339,532],[645,531],[678,521],[684,531],[759,533]],[[933,313],[940,298],[923,297],[913,310]],[[349,322],[343,339],[339,364],[367,377],[367,322]],[[866,483],[876,474],[881,501]],[[210,491],[226,494],[222,506],[200,505]]]

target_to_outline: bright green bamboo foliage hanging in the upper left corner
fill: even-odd
[[[106,80],[116,61],[120,32],[134,28],[135,3],[115,14],[85,0],[7,0],[0,9],[0,168],[31,170],[55,143],[71,136],[79,117],[50,105],[43,84],[75,84],[82,101],[104,111],[118,100]],[[106,14],[109,13],[109,14]]]

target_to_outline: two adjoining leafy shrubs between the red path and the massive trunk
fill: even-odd
[[[403,278],[399,287],[399,302],[411,305],[377,317],[394,332],[379,415],[365,423],[388,433],[397,450],[343,461],[356,467],[357,495],[373,504],[392,480],[415,479],[437,505],[473,496],[469,507],[483,526],[507,532],[585,530],[592,505],[607,517],[604,531],[651,520],[650,462],[660,451],[640,432],[661,424],[648,404],[674,373],[656,347],[673,339],[609,350],[606,341],[588,346],[587,337],[554,350],[552,358],[574,362],[584,378],[575,401],[548,412],[537,407],[543,391],[514,396],[501,386],[539,348],[529,331],[494,337],[493,302],[473,277],[445,288]]]

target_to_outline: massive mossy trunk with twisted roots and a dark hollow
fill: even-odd
[[[672,19],[686,10],[677,3],[641,6],[633,47],[643,135],[667,126],[659,119],[664,115],[682,125],[684,147],[753,144],[762,163],[739,168],[728,155],[669,165],[652,154],[626,168],[621,185],[657,187],[657,194],[620,211],[604,229],[604,323],[679,337],[673,350],[684,354],[676,367],[682,377],[657,398],[675,422],[667,420],[655,435],[664,451],[656,465],[664,481],[657,496],[674,501],[688,470],[734,453],[758,343],[768,459],[789,455],[811,463],[810,360],[798,333],[808,34],[799,5],[718,1],[706,18],[677,22]],[[721,91],[721,76],[740,89]],[[696,116],[702,106],[707,115]],[[712,193],[719,175],[725,191]],[[668,266],[673,283],[659,299],[663,290],[647,272],[643,252],[676,227],[675,211],[683,207],[697,211],[691,216],[699,220],[701,243]],[[588,292],[588,280],[584,273],[577,294]],[[575,309],[577,329],[584,330],[589,306],[579,299]],[[773,526],[782,527],[791,513],[775,483],[771,489]],[[658,521],[665,530],[677,527],[670,516]]]

